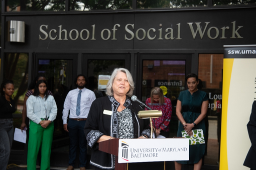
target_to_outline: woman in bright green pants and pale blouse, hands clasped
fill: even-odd
[[[27,100],[27,116],[30,118],[28,170],[36,170],[37,155],[41,147],[41,170],[50,169],[50,155],[57,105],[47,93],[45,80],[39,80],[33,95]]]

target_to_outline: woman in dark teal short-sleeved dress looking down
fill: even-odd
[[[180,120],[177,136],[182,137],[185,130],[190,136],[193,129],[203,129],[205,134],[205,121],[208,96],[206,92],[197,88],[198,76],[190,73],[186,76],[188,90],[181,91],[176,105],[176,115]],[[189,160],[175,161],[175,169],[181,170],[182,164],[194,164],[194,170],[201,169],[205,144],[189,145]]]

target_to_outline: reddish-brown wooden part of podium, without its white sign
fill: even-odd
[[[99,150],[115,155],[115,170],[126,170],[127,163],[118,163],[118,141],[119,138],[113,138],[99,142]]]

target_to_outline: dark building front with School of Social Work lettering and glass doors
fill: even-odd
[[[44,73],[58,104],[51,163],[60,166],[64,162],[66,166],[68,157],[63,150],[68,145],[68,135],[61,116],[65,96],[74,88],[74,78],[84,73],[90,80],[87,87],[94,90],[98,88],[99,75],[110,75],[113,68],[125,67],[135,80],[134,95],[142,101],[150,96],[153,87],[165,89],[165,96],[173,104],[170,137],[175,137],[177,97],[187,89],[185,75],[194,72],[210,98],[207,148],[218,150],[223,45],[255,44],[255,1],[218,5],[217,1],[208,0],[186,5],[159,0],[156,5],[143,0],[120,0],[119,5],[107,1],[103,7],[89,2],[67,0],[41,8],[32,2],[2,2],[0,80],[10,78],[15,82],[15,126],[21,124],[29,83],[38,73]],[[19,32],[12,29],[10,21],[25,22],[21,32],[24,42],[10,40],[12,34]],[[104,91],[100,93],[105,95]],[[14,142],[10,162],[26,164],[26,149],[26,144]],[[56,159],[60,154],[64,158]],[[207,151],[204,163],[218,165],[219,152],[214,158],[209,154]],[[20,155],[22,159],[18,159]]]

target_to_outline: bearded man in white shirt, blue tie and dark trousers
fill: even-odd
[[[79,167],[81,170],[85,170],[87,141],[83,129],[91,103],[96,98],[93,91],[85,88],[86,79],[83,74],[77,75],[75,79],[77,88],[68,92],[62,111],[63,128],[69,134],[69,166],[67,170],[74,169],[77,143],[79,143]],[[69,121],[67,123],[68,113]]]

